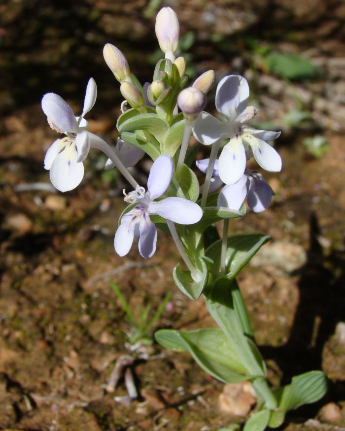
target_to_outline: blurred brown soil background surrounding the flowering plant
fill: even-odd
[[[85,430],[122,430],[129,420],[138,430],[166,421],[167,430],[193,431],[227,421],[199,401],[188,414],[170,407],[186,403],[176,392],[182,385],[187,393],[206,391],[213,412],[222,390],[187,356],[170,352],[165,362],[136,369],[146,425],[136,403],[124,407],[104,395],[111,364],[127,352],[128,322],[110,279],[134,309],[156,308],[171,290],[161,327],[209,322],[203,303],[191,304],[173,286],[177,255],[162,232],[149,263],[136,247],[125,259],[115,256],[127,185],[116,170],[104,171],[103,155],[90,154],[83,182],[66,194],[56,193],[43,169],[56,134],[41,111],[42,96],[57,93],[78,113],[92,76],[98,99],[87,116],[90,131],[115,142],[122,98],[103,46],[116,45],[140,82],[151,81],[162,56],[155,16],[167,5],[180,20],[179,55],[191,80],[208,69],[216,83],[244,75],[250,103],[260,109],[255,126],[282,130],[276,148],[283,170],[267,176],[273,204],[231,227],[274,238],[240,282],[272,383],[312,368],[331,379],[327,399],[294,420],[317,416],[345,425],[344,1],[11,0],[0,3],[0,427],[73,430],[82,422]],[[201,148],[199,157],[206,154]],[[134,174],[144,182],[147,171],[143,160]],[[162,354],[151,349],[149,357]],[[162,415],[153,419],[157,409]]]

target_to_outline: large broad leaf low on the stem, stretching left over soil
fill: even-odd
[[[191,332],[160,330],[155,333],[155,338],[163,347],[189,352],[204,371],[218,380],[237,383],[250,378],[219,329]]]

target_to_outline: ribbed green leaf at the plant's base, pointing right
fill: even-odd
[[[291,410],[302,404],[318,401],[327,392],[327,377],[322,371],[309,371],[292,378],[291,385],[285,386],[279,408]]]

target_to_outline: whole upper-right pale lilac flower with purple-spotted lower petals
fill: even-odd
[[[225,184],[239,181],[246,160],[252,156],[269,172],[281,169],[280,156],[267,143],[276,139],[280,132],[266,132],[244,126],[257,112],[253,106],[247,106],[248,98],[249,86],[243,76],[225,76],[217,86],[215,99],[217,111],[225,121],[202,112],[194,124],[194,136],[204,145],[230,139],[220,154],[218,165],[219,176]]]

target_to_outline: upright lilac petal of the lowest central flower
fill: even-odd
[[[156,199],[167,190],[173,176],[173,159],[162,154],[153,162],[147,180],[147,191],[150,199]]]

